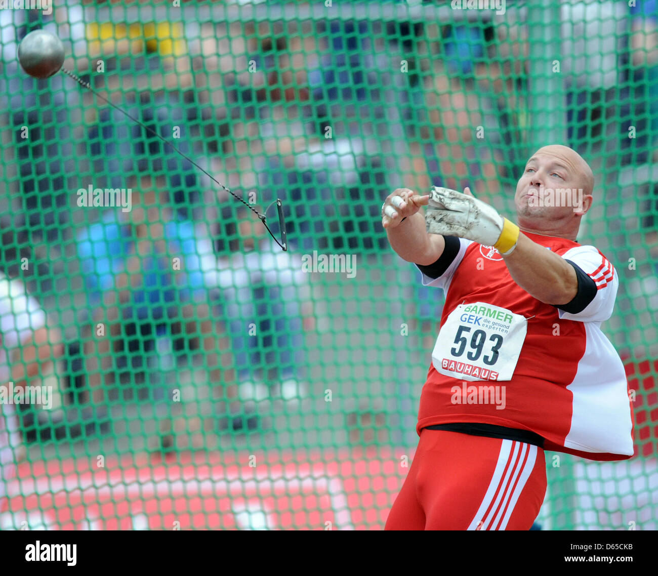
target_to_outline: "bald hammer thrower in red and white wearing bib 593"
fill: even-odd
[[[544,502],[544,450],[632,456],[624,367],[599,328],[619,278],[576,242],[593,190],[586,161],[549,145],[517,184],[518,226],[468,188],[386,198],[393,250],[445,290],[420,440],[386,529],[528,530]]]

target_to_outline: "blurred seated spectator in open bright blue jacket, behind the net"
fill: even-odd
[[[124,375],[133,375],[135,384],[143,384],[149,374],[139,397],[168,407],[176,364],[189,364],[199,354],[211,385],[232,380],[230,372],[222,370],[229,360],[220,357],[220,347],[228,350],[228,343],[220,336],[223,328],[213,321],[206,287],[216,271],[210,240],[172,211],[166,195],[158,201],[150,176],[141,178],[139,188],[141,194],[133,190],[132,211],[108,211],[80,234],[78,252],[89,286],[88,305],[95,310],[94,325],[110,323],[106,338],[97,338],[95,344],[91,338],[86,355],[92,386],[114,382],[111,371],[103,373],[111,368],[111,354],[118,353]],[[97,402],[101,399],[98,396]],[[171,442],[164,434],[163,443]]]

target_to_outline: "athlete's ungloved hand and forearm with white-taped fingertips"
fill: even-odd
[[[401,198],[402,202],[395,198]],[[398,188],[382,206],[382,226],[391,248],[407,262],[429,266],[442,255],[445,240],[440,234],[428,234],[424,213],[429,196],[418,196],[408,188]]]

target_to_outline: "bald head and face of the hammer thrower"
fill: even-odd
[[[572,150],[539,149],[517,183],[514,203],[519,223],[568,221],[582,215],[591,200],[586,186],[580,158]]]

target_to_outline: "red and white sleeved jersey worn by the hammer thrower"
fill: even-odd
[[[424,285],[445,290],[442,328],[450,314],[459,307],[456,321],[464,321],[463,330],[468,332],[463,334],[468,338],[463,338],[462,345],[461,336],[457,334],[453,352],[465,348],[476,357],[484,349],[482,357],[495,362],[497,352],[493,348],[499,345],[498,338],[492,340],[493,344],[487,340],[483,346],[484,337],[480,338],[474,332],[484,334],[484,330],[478,330],[476,326],[471,330],[467,325],[467,322],[477,324],[483,321],[478,319],[478,310],[482,316],[486,309],[473,307],[476,302],[492,305],[493,318],[484,320],[489,324],[492,320],[501,324],[513,317],[519,318],[518,322],[524,324],[524,336],[515,337],[517,346],[513,347],[513,357],[505,360],[513,368],[509,372],[510,378],[499,381],[495,381],[499,378],[495,365],[486,371],[478,371],[476,378],[461,379],[440,373],[435,363],[438,356],[447,355],[447,348],[438,345],[420,396],[418,434],[430,425],[484,423],[535,432],[544,438],[545,450],[594,460],[630,458],[633,454],[633,413],[628,382],[619,355],[599,327],[601,322],[609,319],[615,305],[619,286],[617,272],[593,246],[580,246],[563,238],[524,234],[590,276],[597,288],[594,298],[578,313],[567,313],[542,303],[513,280],[497,250],[460,238],[459,251],[443,275],[435,279],[422,274]],[[504,311],[495,311],[493,307]],[[461,311],[466,313],[460,316]],[[449,329],[455,327],[455,315],[448,326]],[[471,335],[472,340],[469,340]],[[452,342],[455,334],[448,334],[448,337]],[[438,340],[446,341],[441,336]],[[453,363],[450,369],[472,373],[474,368],[465,356],[464,362]],[[447,365],[444,360],[443,371]],[[468,397],[468,400],[469,391],[477,390],[478,384],[504,386],[504,402],[482,401],[482,396],[478,402],[477,395]]]

